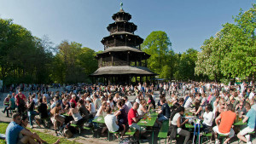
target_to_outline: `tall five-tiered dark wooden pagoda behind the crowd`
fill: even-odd
[[[121,3],[122,6],[122,3]],[[122,9],[113,14],[114,22],[107,29],[108,37],[103,37],[104,51],[96,55],[98,69],[90,76],[93,82],[103,84],[131,84],[131,80],[138,82],[151,82],[157,75],[147,67],[150,57],[141,50],[143,38],[134,34],[137,26],[129,22],[131,14]]]

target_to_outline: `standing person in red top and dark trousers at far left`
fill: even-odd
[[[26,111],[26,96],[21,93],[21,89],[19,89],[19,93],[15,95],[15,103],[20,115],[24,114]]]

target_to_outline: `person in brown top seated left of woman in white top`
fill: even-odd
[[[62,125],[65,122],[65,118],[61,117],[61,104],[59,102],[57,102],[56,106],[50,110],[50,114],[52,116],[50,120],[52,124],[54,124],[55,134],[57,135],[58,125]]]

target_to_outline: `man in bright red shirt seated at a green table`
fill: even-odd
[[[137,139],[139,138],[140,133],[143,134],[146,132],[145,129],[142,129],[142,127],[140,127],[137,124],[139,120],[143,118],[143,115],[138,115],[137,113],[138,107],[139,107],[139,104],[137,102],[134,102],[133,107],[131,107],[130,111],[128,112],[128,124],[129,124],[129,127],[132,127],[137,130],[135,133]]]

